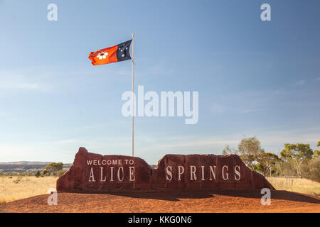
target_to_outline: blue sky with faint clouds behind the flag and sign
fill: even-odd
[[[58,6],[58,21],[47,6]],[[272,21],[260,20],[271,6]],[[131,62],[91,51],[136,34],[135,84],[199,92],[199,121],[139,117],[135,153],[220,154],[254,136],[265,150],[320,140],[319,1],[0,1],[0,162],[131,155]]]

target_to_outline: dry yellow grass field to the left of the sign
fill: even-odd
[[[46,194],[57,177],[0,177],[0,204]]]

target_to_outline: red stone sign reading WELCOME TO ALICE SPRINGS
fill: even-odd
[[[58,192],[188,188],[274,189],[238,155],[165,155],[151,169],[139,157],[98,155],[85,148],[57,180]]]

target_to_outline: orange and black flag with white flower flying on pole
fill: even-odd
[[[131,42],[132,40],[128,40],[119,45],[114,45],[111,48],[90,52],[89,59],[91,60],[92,65],[105,65],[113,62],[130,60],[131,56],[129,50]]]

